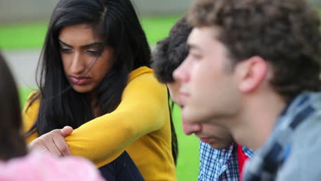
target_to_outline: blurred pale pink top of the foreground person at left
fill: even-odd
[[[32,152],[8,162],[0,161],[1,181],[103,181],[93,163],[80,157],[56,157],[47,152]]]

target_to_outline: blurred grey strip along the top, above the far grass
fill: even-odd
[[[193,0],[131,0],[143,16],[181,14]],[[48,21],[58,0],[1,0],[0,23]]]

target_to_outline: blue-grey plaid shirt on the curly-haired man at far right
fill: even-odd
[[[291,104],[285,108],[285,110],[283,110],[282,114],[276,121],[276,126],[272,135],[268,138],[268,141],[264,143],[263,147],[255,153],[255,156],[249,162],[246,162],[243,175],[244,181],[276,180],[279,171],[282,169],[283,163],[289,158],[289,154],[296,151],[292,150],[292,143],[295,139],[298,139],[298,136],[302,136],[298,135],[300,132],[295,132],[296,128],[303,123],[309,123],[309,121],[314,127],[320,125],[320,123],[318,123],[320,121],[320,117],[318,117],[318,114],[320,114],[318,113],[318,111],[320,112],[320,98],[320,93],[302,93],[296,97],[296,99],[294,99]],[[312,131],[312,129],[313,128],[310,128],[310,131]],[[306,132],[303,132],[303,134],[307,135],[309,130],[305,131]],[[316,137],[312,139],[318,138]],[[311,143],[309,140],[306,140],[305,142]],[[296,147],[296,149],[309,148]],[[320,164],[318,163],[318,160],[320,160],[318,158],[307,164],[304,160],[308,160],[308,156],[309,155],[305,155],[305,158],[295,158],[296,160],[301,160],[301,162],[298,162],[297,165],[289,164],[287,167],[300,167],[300,165],[312,166],[313,164]],[[304,171],[301,170],[299,169],[294,171],[290,169],[290,171],[292,171],[290,174],[292,175],[292,179],[295,178],[296,180],[302,180],[301,178],[296,177],[296,175],[302,177],[302,174],[305,180],[311,180],[307,177],[315,173],[317,173],[317,177],[320,176],[320,169],[310,168],[309,171],[314,171],[311,171],[310,173],[303,173]],[[320,179],[318,178],[318,180]]]

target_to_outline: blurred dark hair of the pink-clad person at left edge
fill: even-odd
[[[12,73],[0,53],[0,160],[27,154],[21,134],[22,119],[18,91]]]

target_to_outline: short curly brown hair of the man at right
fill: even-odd
[[[234,65],[252,56],[272,64],[271,84],[285,99],[320,90],[320,20],[305,0],[200,0],[187,19],[219,27]]]

